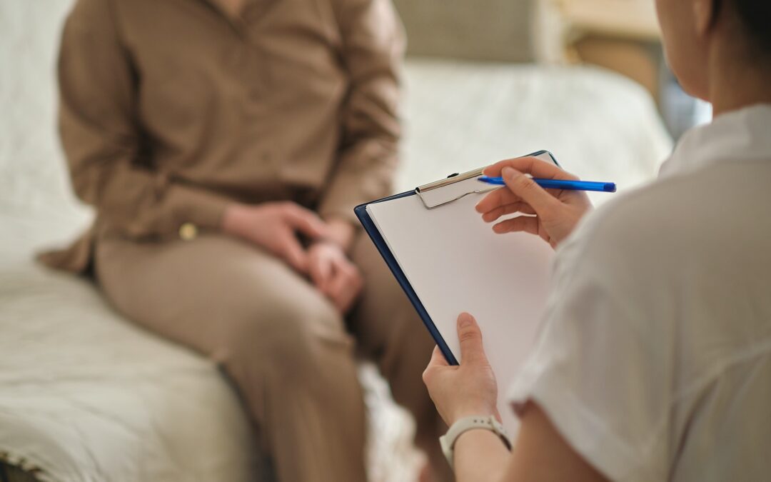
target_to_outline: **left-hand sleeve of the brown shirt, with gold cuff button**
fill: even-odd
[[[59,132],[73,188],[100,219],[131,238],[180,225],[218,228],[227,201],[152,166],[137,120],[137,72],[109,0],[79,0],[59,56]]]

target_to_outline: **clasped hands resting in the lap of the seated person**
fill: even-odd
[[[359,268],[348,259],[339,244],[329,241],[331,227],[313,211],[283,201],[257,204],[231,204],[227,207],[222,228],[264,248],[277,258],[306,275],[335,305],[345,313],[362,290]],[[304,248],[297,234],[311,240]]]

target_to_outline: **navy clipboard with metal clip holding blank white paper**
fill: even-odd
[[[541,160],[559,165],[554,156],[547,150],[540,150],[528,154],[528,156],[538,157]],[[461,311],[468,311],[472,315],[477,315],[472,309],[465,308],[462,300],[459,301],[458,298],[466,296],[466,301],[469,302],[478,298],[478,295],[474,295],[473,291],[479,289],[480,285],[492,282],[485,278],[488,272],[487,268],[490,268],[489,271],[493,273],[493,276],[497,276],[499,282],[495,286],[498,292],[502,289],[502,283],[507,283],[510,278],[517,278],[517,276],[520,279],[520,289],[533,288],[533,292],[522,295],[523,302],[532,302],[529,311],[524,310],[528,318],[532,318],[527,320],[528,325],[523,329],[528,340],[517,340],[521,343],[517,349],[513,349],[515,352],[497,353],[497,365],[499,366],[493,362],[493,354],[488,352],[493,369],[499,376],[499,383],[507,383],[509,380],[501,379],[499,372],[510,372],[512,367],[503,366],[508,360],[513,360],[513,364],[524,361],[527,355],[524,351],[527,351],[527,348],[532,345],[537,324],[540,322],[540,315],[545,309],[550,260],[553,257],[553,251],[543,240],[532,234],[493,233],[491,225],[485,224],[481,220],[480,214],[473,210],[473,204],[476,204],[487,192],[500,189],[500,187],[491,187],[489,184],[476,182],[476,178],[481,175],[482,168],[463,174],[451,174],[445,179],[424,184],[414,190],[361,204],[355,207],[354,211],[396,281],[399,282],[407,298],[416,309],[426,329],[432,335],[436,345],[439,346],[447,362],[452,365],[457,365],[460,359],[454,329],[457,315]],[[466,223],[468,229],[466,229],[466,224],[455,224],[453,217],[456,216],[459,219],[463,218],[460,222],[461,224]],[[420,224],[416,224],[416,222]],[[387,232],[383,233],[381,229]],[[443,240],[440,231],[453,232],[453,230],[456,238]],[[467,236],[464,234],[466,231],[469,232]],[[491,254],[479,254],[474,251],[476,247],[475,236],[480,237],[480,246],[489,250],[496,250],[497,256],[501,258],[509,257],[510,254],[517,254],[517,250],[520,248],[524,250],[520,253],[524,258],[517,263],[517,266],[523,266],[524,272],[512,273],[509,277],[507,272],[500,271],[502,268],[493,265]],[[423,238],[430,238],[432,240],[430,242],[434,244],[426,244],[428,241],[423,242],[425,241]],[[507,240],[512,241],[511,247]],[[420,252],[409,252],[411,250]],[[530,254],[532,254],[532,260],[530,260]],[[487,263],[487,268],[479,266],[476,273],[473,272],[473,266],[467,265],[470,258],[480,258],[481,263]],[[423,264],[421,265],[421,263]],[[470,278],[460,279],[466,275],[466,272],[458,271],[460,269],[458,265],[464,263],[466,266],[461,267],[468,271]],[[441,271],[446,271],[452,275],[450,278],[442,278]],[[529,282],[528,277],[534,278],[533,283]],[[528,286],[524,286],[523,283],[526,278]],[[531,287],[530,284],[534,286]],[[442,287],[441,285],[446,286]],[[515,301],[513,299],[497,300],[496,302],[501,307],[497,314],[490,315],[488,313],[487,320],[477,316],[477,321],[480,322],[480,327],[483,330],[486,349],[488,349],[490,342],[490,345],[498,343],[499,351],[505,350],[505,348],[500,347],[500,340],[490,340],[490,335],[495,330],[489,324],[498,322],[497,320],[490,321],[490,319],[500,319],[503,316],[508,316],[509,312],[516,312],[507,305]],[[456,312],[451,312],[449,308],[444,309],[442,306],[445,302],[448,302],[448,305],[453,303],[460,305],[457,306]],[[469,305],[473,305],[473,303],[469,303]],[[476,309],[480,310],[478,300],[476,305]],[[484,324],[485,322],[488,323],[487,326]],[[517,320],[511,322],[524,323]],[[509,323],[509,321],[503,320],[503,323]],[[517,328],[514,327],[513,329]],[[510,329],[509,335],[511,335]],[[512,345],[517,345],[517,343],[514,342]],[[499,396],[505,392],[506,386],[502,386],[502,389],[499,390]],[[503,399],[499,400],[500,403],[503,403]],[[510,430],[516,430],[517,420],[513,415],[504,414],[510,412],[510,410],[500,410],[504,418],[504,425]]]

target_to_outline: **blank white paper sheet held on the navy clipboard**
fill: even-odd
[[[531,234],[494,233],[474,210],[482,197],[429,210],[409,196],[369,204],[367,211],[459,361],[456,319],[464,311],[476,317],[500,388],[503,424],[513,433],[517,418],[503,393],[533,344],[553,251]]]

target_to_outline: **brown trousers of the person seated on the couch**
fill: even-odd
[[[365,288],[344,319],[282,261],[221,234],[97,242],[96,275],[128,318],[221,363],[281,482],[363,482],[365,407],[355,350],[377,362],[439,459],[421,380],[433,341],[366,234],[352,251]],[[447,477],[447,474],[443,474]]]

